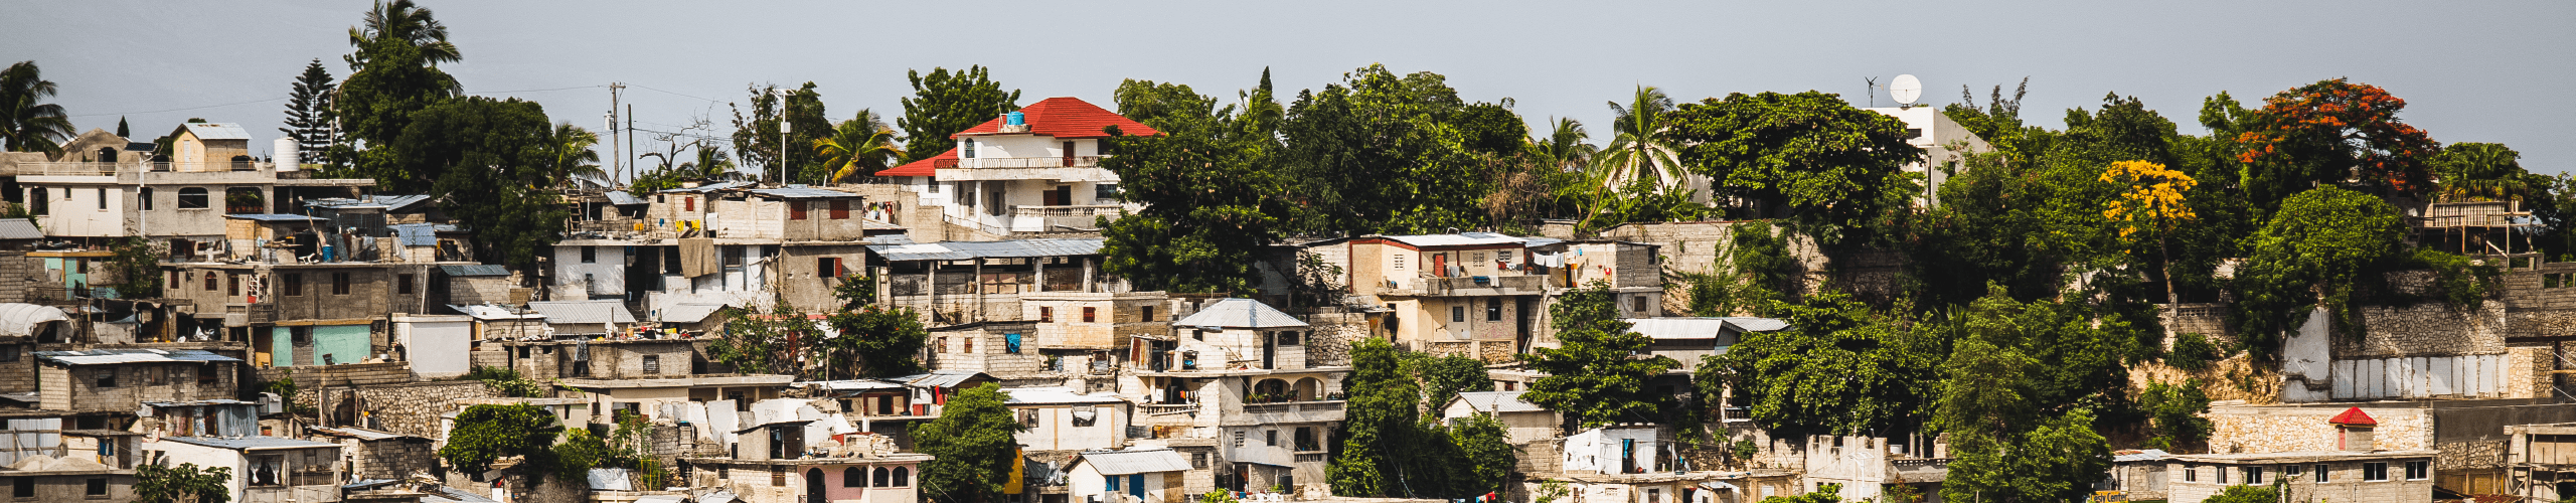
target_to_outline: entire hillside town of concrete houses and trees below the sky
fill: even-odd
[[[350,52],[276,134],[0,75],[10,500],[2576,498],[2576,178],[2367,83],[1587,134],[1381,64],[943,67],[592,132],[412,0]]]

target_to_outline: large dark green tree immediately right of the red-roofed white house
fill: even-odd
[[[1115,95],[1121,116],[1159,134],[1105,139],[1118,155],[1100,168],[1118,173],[1118,199],[1146,209],[1100,222],[1100,268],[1139,289],[1249,294],[1260,281],[1255,253],[1278,242],[1296,214],[1280,196],[1288,183],[1270,168],[1275,134],[1188,85],[1126,80]],[[1249,95],[1267,101],[1270,90]]]

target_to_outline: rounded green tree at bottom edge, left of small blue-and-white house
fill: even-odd
[[[987,382],[951,397],[940,418],[912,426],[914,449],[933,457],[922,462],[927,500],[981,503],[1002,495],[1020,457],[1012,433],[1025,431],[1002,400],[1002,387]]]

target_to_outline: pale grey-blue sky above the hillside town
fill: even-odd
[[[33,59],[80,132],[160,137],[185,119],[283,137],[307,62],[335,77],[366,3],[82,0],[0,15],[0,62]],[[2197,126],[2221,90],[2257,103],[2329,77],[2406,98],[2445,144],[2504,142],[2535,173],[2576,168],[2576,3],[479,3],[425,0],[464,52],[466,93],[538,101],[600,129],[626,83],[636,129],[703,116],[732,134],[752,83],[817,83],[827,113],[899,116],[907,70],[984,64],[1020,103],[1115,108],[1121,80],[1234,98],[1267,67],[1283,101],[1365,64],[1437,72],[1533,126],[1571,116],[1607,142],[1636,85],[1677,101],[1826,90],[1888,106],[1868,77],[1917,75],[1922,103],[2030,77],[2022,119],[2063,126],[2105,93]],[[891,121],[891,119],[889,119]],[[639,139],[636,147],[659,150]]]

